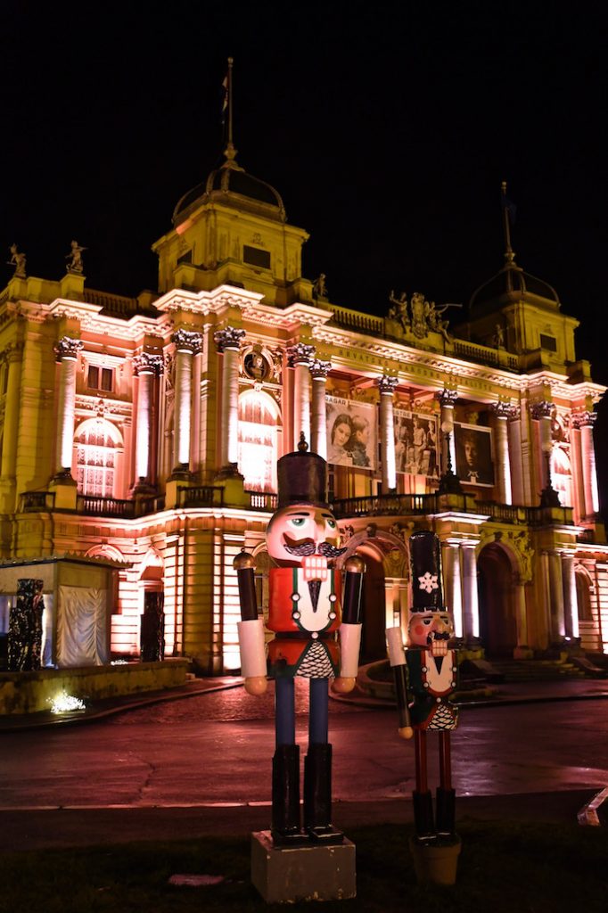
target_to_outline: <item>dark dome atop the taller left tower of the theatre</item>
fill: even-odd
[[[183,194],[173,210],[173,225],[180,225],[194,209],[214,200],[285,222],[285,206],[278,191],[237,165],[235,149],[228,148],[225,155],[225,163],[212,171],[204,184],[197,184]]]

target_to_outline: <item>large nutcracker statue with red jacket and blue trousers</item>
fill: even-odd
[[[272,762],[272,828],[275,847],[341,843],[331,824],[329,684],[342,693],[355,684],[361,644],[364,570],[352,555],[343,572],[332,567],[340,548],[338,524],[327,504],[327,464],[299,450],[278,460],[278,509],[267,527],[268,628],[257,615],[254,559],[236,556],[242,621],[238,624],[241,669],[249,694],[262,694],[267,673],[275,679],[276,750]],[[339,635],[339,639],[338,638]],[[309,748],[304,760],[304,819],[300,822],[299,745],[296,743],[295,678],[309,679]]]

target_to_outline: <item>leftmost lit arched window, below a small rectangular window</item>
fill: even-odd
[[[77,428],[74,443],[79,494],[114,498],[121,445],[118,429],[103,418],[91,418]]]

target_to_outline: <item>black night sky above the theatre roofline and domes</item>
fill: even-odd
[[[5,0],[5,260],[16,242],[58,279],[75,238],[90,288],[155,289],[152,242],[223,161],[232,56],[238,162],[309,231],[304,274],[332,301],[466,304],[503,263],[506,180],[519,266],[582,321],[577,357],[608,384],[603,3],[224,6]]]

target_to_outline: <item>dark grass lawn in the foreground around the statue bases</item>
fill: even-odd
[[[365,913],[561,913],[608,910],[608,832],[576,824],[460,822],[455,887],[414,879],[408,829],[350,830],[357,845],[357,897],[320,909]],[[211,887],[173,887],[175,874],[224,876]],[[149,842],[6,854],[2,913],[206,913],[308,909],[267,905],[249,882],[248,837]]]

